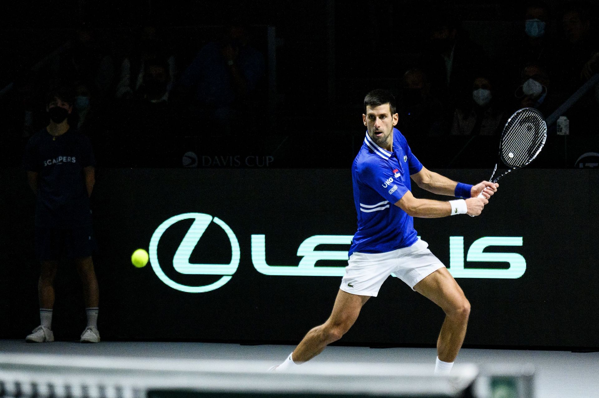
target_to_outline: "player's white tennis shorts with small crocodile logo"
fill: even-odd
[[[349,257],[340,288],[347,293],[376,297],[383,282],[395,274],[413,290],[418,282],[443,267],[428,250],[428,243],[420,239],[410,247],[386,253],[354,252]]]

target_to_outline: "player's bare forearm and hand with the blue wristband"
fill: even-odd
[[[456,187],[458,187],[456,181],[430,171],[424,166],[422,166],[422,169],[420,169],[419,172],[410,175],[410,177],[416,185],[428,192],[437,195],[457,196],[458,198],[476,198],[482,192],[483,196],[485,196],[486,199],[489,199],[495,192],[497,192],[497,188],[499,187],[499,184],[497,183],[482,181],[482,183],[470,187],[470,196],[457,195],[459,192],[456,192]],[[461,184],[462,190],[464,186],[465,184]]]

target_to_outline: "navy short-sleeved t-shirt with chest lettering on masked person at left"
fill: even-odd
[[[92,224],[83,168],[95,166],[89,139],[69,129],[52,136],[44,128],[25,148],[23,168],[37,172],[35,225],[69,228]]]

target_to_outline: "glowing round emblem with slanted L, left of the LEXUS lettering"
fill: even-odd
[[[175,271],[186,275],[223,275],[223,277],[218,281],[209,285],[188,286],[177,283],[173,281],[173,279],[167,277],[158,263],[158,242],[160,241],[162,234],[174,223],[182,220],[189,220],[189,218],[193,218],[193,224],[185,234],[185,237],[183,238],[183,241],[181,241],[179,248],[177,248],[175,256],[173,257],[173,267]],[[206,228],[211,222],[214,222],[217,224],[217,226],[221,227],[228,236],[229,243],[231,244],[231,262],[228,264],[189,263],[189,258],[193,248],[195,248],[195,245],[198,244],[199,239],[202,238],[202,235],[204,235]],[[168,286],[180,291],[185,291],[187,293],[203,293],[205,291],[211,291],[221,287],[231,279],[232,275],[235,274],[235,271],[237,271],[237,267],[239,266],[240,250],[237,236],[235,236],[235,233],[233,233],[233,230],[225,223],[225,221],[220,220],[220,218],[217,217],[212,217],[210,214],[185,213],[169,218],[167,221],[164,221],[164,223],[160,224],[160,226],[153,233],[152,239],[150,239],[149,249],[150,263],[152,264],[152,269],[158,278],[160,278],[161,281]]]

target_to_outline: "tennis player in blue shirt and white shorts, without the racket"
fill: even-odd
[[[358,232],[353,236],[349,263],[328,320],[305,335],[283,363],[269,370],[291,370],[317,356],[352,327],[370,297],[395,273],[446,314],[437,339],[435,373],[449,374],[464,342],[470,303],[428,244],[418,238],[413,217],[479,215],[499,184],[474,186],[456,183],[427,170],[412,154],[406,138],[394,126],[395,98],[374,90],[364,98],[364,144],[352,165],[353,198]],[[418,199],[410,192],[410,178],[422,189],[455,200]],[[483,198],[477,198],[480,193]]]

